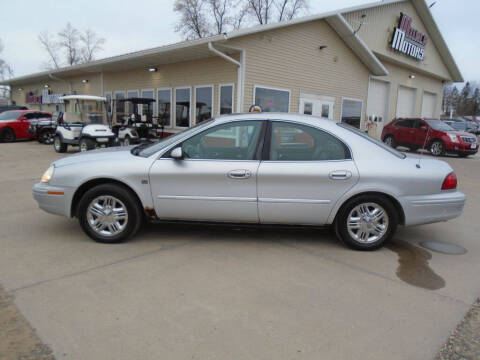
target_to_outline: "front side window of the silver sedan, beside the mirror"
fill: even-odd
[[[261,121],[239,121],[214,126],[182,143],[186,159],[254,160]]]

